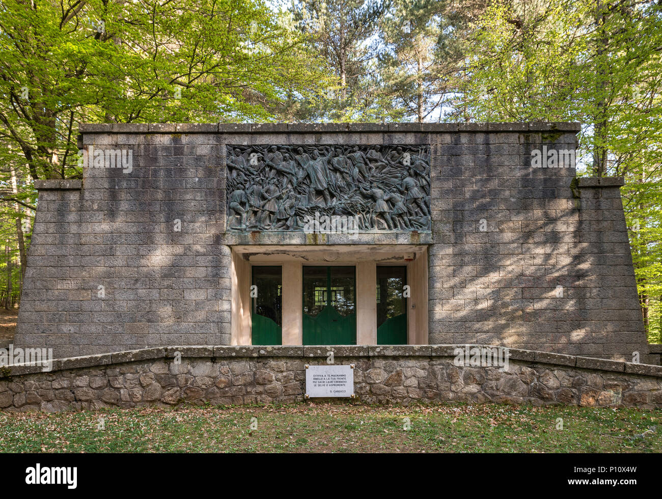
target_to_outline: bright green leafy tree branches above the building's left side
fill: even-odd
[[[0,137],[32,179],[75,168],[77,122],[275,120],[305,36],[263,0],[0,1]]]

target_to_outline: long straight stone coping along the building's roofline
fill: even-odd
[[[579,132],[577,122],[532,123],[81,123],[81,134],[328,132]]]

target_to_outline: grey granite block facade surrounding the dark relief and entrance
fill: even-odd
[[[428,341],[659,363],[649,356],[619,187],[575,179],[579,124],[83,124],[111,150],[36,181],[19,347],[56,357],[232,343],[236,245],[427,248]],[[228,145],[430,150],[432,230],[226,230]],[[543,156],[544,153],[544,156]],[[106,155],[105,159],[108,159]],[[536,163],[535,161],[538,161]],[[179,224],[179,230],[177,227]]]

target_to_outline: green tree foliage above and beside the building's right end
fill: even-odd
[[[578,121],[579,175],[618,175],[649,340],[662,300],[662,6],[495,1],[475,24],[454,118]]]

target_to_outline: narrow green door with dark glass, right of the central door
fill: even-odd
[[[377,344],[407,344],[407,267],[377,266]]]

